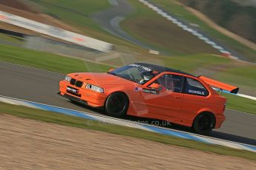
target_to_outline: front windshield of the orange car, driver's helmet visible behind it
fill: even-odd
[[[160,72],[157,72],[149,67],[144,67],[140,64],[129,64],[124,67],[119,67],[108,73],[116,75],[120,78],[125,78],[129,81],[134,81],[137,84],[145,84]]]

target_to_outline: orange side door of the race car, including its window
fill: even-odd
[[[160,84],[160,89],[154,89],[152,84]],[[148,106],[148,112],[156,115],[176,117],[183,104],[183,76],[164,74],[142,89],[142,96]]]

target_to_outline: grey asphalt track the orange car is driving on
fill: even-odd
[[[102,114],[87,106],[77,106],[57,95],[59,81],[63,78],[64,75],[59,73],[0,62],[0,95]],[[214,130],[210,136],[256,146],[256,115],[231,110],[226,110],[225,115],[223,126]],[[174,128],[187,130],[182,127]]]

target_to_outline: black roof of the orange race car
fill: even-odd
[[[180,73],[180,74],[183,74],[183,75],[191,75],[187,72],[183,72],[183,71],[180,71],[178,69],[171,69],[171,68],[168,68],[168,67],[163,67],[163,66],[154,65],[154,64],[147,64],[147,63],[134,63],[134,64],[138,64],[138,65],[141,65],[143,67],[148,67],[148,68],[153,69],[157,72],[177,72],[177,73]],[[197,77],[195,75],[191,75],[191,76]]]

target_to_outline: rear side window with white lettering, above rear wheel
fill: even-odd
[[[194,80],[193,78],[186,78],[186,86],[184,92],[190,95],[209,95],[209,92],[206,89],[206,87],[203,86],[203,84],[201,84],[199,81]]]

